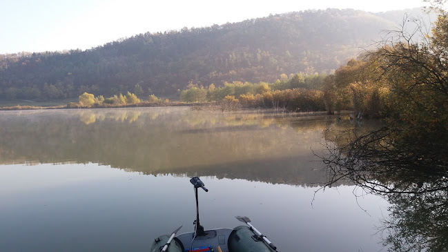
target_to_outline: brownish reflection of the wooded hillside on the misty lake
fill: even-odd
[[[98,163],[144,174],[213,175],[315,186],[324,115],[208,113],[189,108],[1,112],[1,164]],[[333,132],[332,130],[331,132]],[[311,149],[313,151],[311,151]]]

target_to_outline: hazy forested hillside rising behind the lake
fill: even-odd
[[[190,81],[220,86],[224,81],[257,83],[275,81],[281,74],[331,72],[378,41],[381,30],[398,26],[404,14],[307,10],[146,32],[89,50],[0,55],[0,99],[128,91],[141,97],[178,97]]]

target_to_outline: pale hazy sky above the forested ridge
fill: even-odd
[[[0,0],[0,54],[93,48],[145,32],[180,30],[327,8],[368,12],[422,0]]]

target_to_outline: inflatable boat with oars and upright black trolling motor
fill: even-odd
[[[161,235],[156,238],[150,252],[278,252],[277,247],[255,229],[246,216],[236,216],[237,220],[244,222],[246,226],[237,226],[235,229],[204,230],[199,223],[197,188],[200,187],[206,192],[208,189],[199,177],[191,178],[190,182],[195,187],[195,231],[177,235],[182,228],[179,226],[171,235]]]

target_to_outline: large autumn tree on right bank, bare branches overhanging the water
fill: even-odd
[[[408,21],[409,20],[409,21]],[[381,71],[380,83],[390,110],[380,130],[352,135],[323,157],[329,184],[349,179],[373,193],[425,193],[447,190],[448,34],[446,15],[427,35],[415,19],[369,53]],[[419,29],[409,34],[406,26]],[[420,36],[420,41],[413,38]]]

